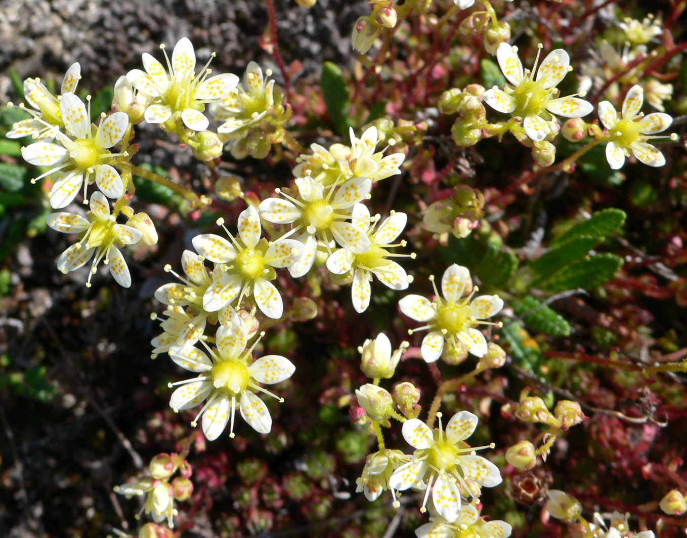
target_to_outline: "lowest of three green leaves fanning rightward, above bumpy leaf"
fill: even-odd
[[[589,291],[611,280],[620,267],[620,256],[596,254],[556,271],[541,284],[541,287],[552,293],[576,288]]]

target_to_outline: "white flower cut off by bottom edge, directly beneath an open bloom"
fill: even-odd
[[[443,517],[430,517],[426,523],[415,531],[418,538],[508,538],[513,527],[499,519],[490,522],[480,519],[480,513],[473,504],[464,504],[458,517],[449,523]]]

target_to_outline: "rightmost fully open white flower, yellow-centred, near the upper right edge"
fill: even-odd
[[[630,151],[649,166],[666,164],[663,154],[646,141],[666,138],[665,135],[651,135],[665,131],[673,123],[673,118],[662,112],[644,116],[640,113],[642,104],[644,104],[644,90],[640,85],[634,85],[622,102],[620,117],[610,102],[602,101],[598,105],[599,119],[608,129],[609,142],[606,145],[606,159],[613,170],[618,170],[625,164],[625,157],[629,157]],[[676,139],[675,135],[670,135],[670,137]]]

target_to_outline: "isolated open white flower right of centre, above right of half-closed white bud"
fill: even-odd
[[[477,287],[473,288],[470,295],[462,298],[468,280],[469,271],[460,265],[451,265],[441,279],[442,299],[436,290],[433,277],[430,277],[436,298],[430,302],[420,295],[407,295],[398,302],[403,312],[408,317],[418,322],[428,322],[416,330],[429,329],[429,333],[423,339],[421,352],[427,362],[436,361],[444,350],[444,341],[449,341],[453,346],[460,341],[465,348],[477,357],[486,353],[486,338],[475,328],[478,324],[494,325],[484,322],[504,306],[504,302],[498,295],[480,295],[472,299]]]

